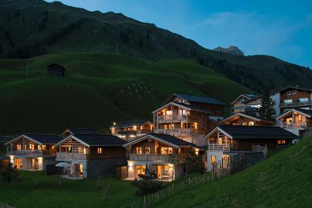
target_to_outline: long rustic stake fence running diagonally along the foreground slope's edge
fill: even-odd
[[[162,189],[157,191],[156,193],[144,196],[144,199],[137,200],[130,203],[129,205],[123,205],[121,208],[152,207],[156,203],[164,200],[165,198],[180,193],[180,191],[192,189],[193,187],[198,187],[199,185],[205,184],[211,180],[213,180],[213,177],[209,174],[200,175],[198,177],[189,177],[187,180],[184,180],[182,182],[173,182],[169,187],[166,187],[166,189]]]

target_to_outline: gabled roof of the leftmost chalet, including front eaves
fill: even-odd
[[[8,145],[12,143],[13,141],[21,139],[22,137],[25,137],[26,139],[29,139],[37,144],[55,144],[55,143],[58,143],[58,141],[63,139],[62,137],[58,135],[24,134],[24,135],[20,135],[19,137],[16,137],[15,139],[8,141],[5,145]]]

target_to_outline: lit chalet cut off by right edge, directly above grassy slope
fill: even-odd
[[[312,128],[312,110],[293,108],[277,117],[281,128],[303,138]]]

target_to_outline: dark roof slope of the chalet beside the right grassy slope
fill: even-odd
[[[218,128],[233,139],[299,139],[297,135],[277,126],[218,125]]]

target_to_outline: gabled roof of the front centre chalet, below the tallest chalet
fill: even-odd
[[[195,144],[192,144],[188,141],[184,141],[183,139],[179,139],[179,138],[173,137],[171,135],[155,134],[155,133],[151,133],[148,135],[144,135],[143,137],[139,137],[137,139],[134,139],[134,140],[128,142],[127,144],[123,145],[123,147],[127,147],[127,146],[130,146],[132,144],[137,144],[138,142],[143,141],[144,139],[148,139],[150,137],[157,140],[157,141],[160,141],[164,144],[168,144],[169,146],[172,146],[174,148],[180,148],[183,146],[192,146],[194,148],[197,148],[197,146]]]

